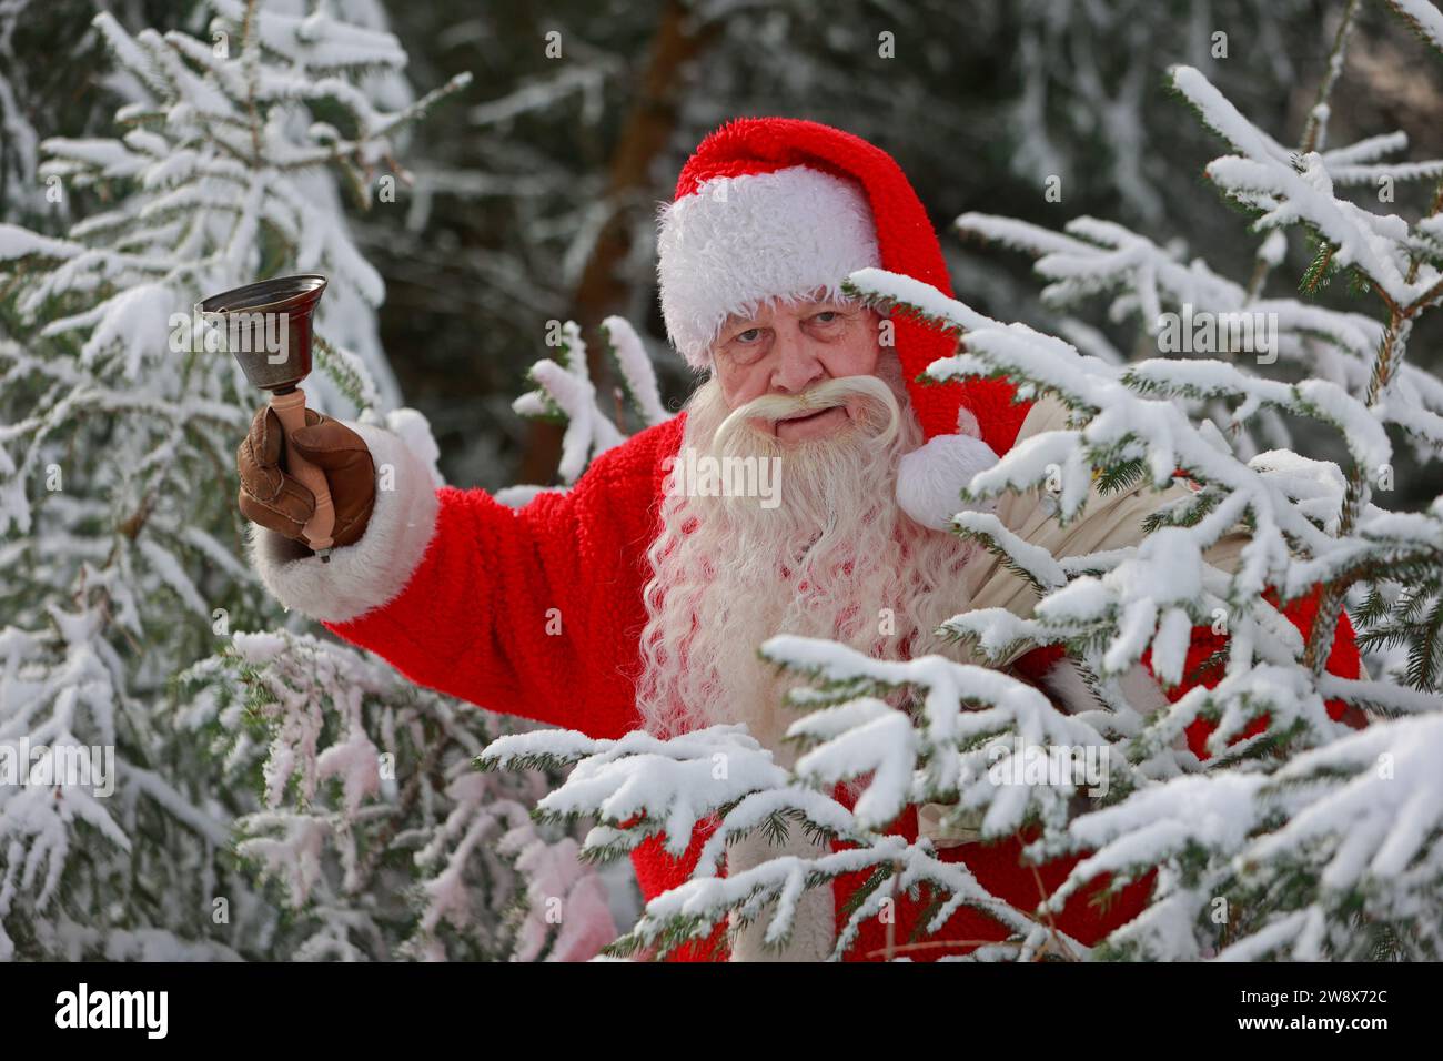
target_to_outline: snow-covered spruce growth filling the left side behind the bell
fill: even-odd
[[[381,417],[384,292],[341,192],[404,189],[395,137],[465,78],[388,107],[405,53],[361,0],[209,10],[208,39],[97,16],[144,98],[115,137],[40,143],[81,217],[63,235],[0,225],[0,957],[586,953],[605,918],[525,912],[540,881],[592,914],[599,895],[525,818],[537,780],[457,777],[489,733],[475,710],[238,632],[278,618],[234,507],[260,397],[192,313],[325,273],[307,391]],[[385,420],[434,459],[421,417]]]

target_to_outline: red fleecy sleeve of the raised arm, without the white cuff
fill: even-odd
[[[481,707],[620,736],[636,723],[626,632],[645,621],[657,455],[678,432],[677,420],[642,432],[571,489],[524,508],[442,488],[436,531],[401,593],[326,628]]]

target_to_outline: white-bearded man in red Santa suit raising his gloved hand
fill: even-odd
[[[658,277],[670,338],[701,374],[685,410],[597,458],[566,492],[524,508],[481,489],[434,489],[403,442],[368,424],[315,413],[283,440],[257,414],[238,453],[241,511],[255,524],[253,560],[270,590],[417,683],[481,707],[615,738],[645,728],[674,735],[745,722],[789,762],[782,683],[756,654],[778,632],[843,641],[880,657],[965,650],[937,635],[975,606],[1027,614],[1032,598],[993,557],[945,530],[958,491],[1019,437],[1061,426],[1055,403],[1014,403],[1006,381],[922,385],[954,352],[952,336],[883,316],[840,284],[880,267],[951,293],[937,235],[906,176],[885,152],[810,121],[745,118],[710,134],[659,215]],[[315,499],[286,472],[286,446],[325,469],[336,508],[326,562],[302,544]],[[775,491],[698,489],[697,459],[775,468]],[[1183,489],[1179,484],[1176,489]],[[1040,501],[1045,502],[1045,498]],[[1098,498],[1105,511],[1058,528],[1038,497],[1007,499],[1009,527],[1056,554],[1136,544],[1159,495]],[[1227,563],[1227,549],[1209,557]],[[1310,625],[1306,603],[1289,611]],[[1189,673],[1218,647],[1199,628]],[[1330,661],[1356,677],[1346,619]],[[1012,663],[1065,710],[1087,690],[1056,652]],[[1216,674],[1195,674],[1212,683]],[[1144,707],[1176,699],[1146,665],[1130,677]],[[1330,707],[1335,717],[1342,704]],[[1203,754],[1206,728],[1189,732]],[[850,805],[851,793],[837,797]],[[911,807],[892,826],[909,839],[935,821]],[[921,814],[919,814],[921,811]],[[681,883],[709,834],[670,857],[638,847],[645,898]],[[993,895],[1032,912],[1076,857],[1022,862],[1019,834],[983,843],[967,830],[928,833]],[[779,853],[771,842],[729,849],[727,866]],[[815,853],[802,839],[784,847]],[[812,889],[782,957],[833,950],[847,896],[864,873]],[[1107,881],[1055,920],[1091,944],[1134,917],[1152,879],[1098,902]],[[1007,933],[962,908],[913,938],[926,895],[903,896],[896,924],[869,924],[848,959],[961,954]],[[681,957],[766,957],[755,935],[717,925]]]

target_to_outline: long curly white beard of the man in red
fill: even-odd
[[[795,717],[784,704],[795,678],[758,657],[765,639],[825,637],[879,658],[948,650],[934,631],[968,605],[961,572],[971,547],[898,507],[898,462],[922,432],[895,354],[885,352],[879,377],[823,384],[827,397],[812,407],[846,400],[851,423],[791,445],[746,424],[785,414],[773,398],[729,419],[714,378],[691,397],[681,452],[781,458],[779,504],[671,489],[662,499],[638,680],[649,732],[745,722],[789,765],[781,738]]]

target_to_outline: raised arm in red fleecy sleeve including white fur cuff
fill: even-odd
[[[253,562],[271,593],[420,684],[595,736],[632,729],[625,632],[644,621],[654,439],[603,455],[564,494],[511,508],[481,489],[436,489],[390,432],[330,423],[364,442],[374,507],[329,563],[254,527]],[[316,430],[291,445],[333,479],[338,458]]]

